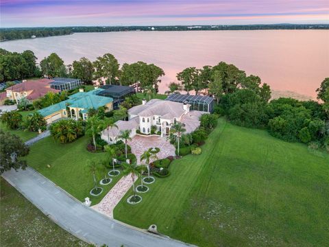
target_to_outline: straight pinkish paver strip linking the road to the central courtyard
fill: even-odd
[[[113,209],[120,202],[125,193],[132,187],[132,177],[123,176],[116,185],[108,191],[106,196],[99,202],[99,204],[92,206],[93,209],[108,215],[113,218]]]

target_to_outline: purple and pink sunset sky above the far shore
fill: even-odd
[[[329,0],[0,0],[1,27],[329,23]]]

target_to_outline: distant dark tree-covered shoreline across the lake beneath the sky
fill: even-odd
[[[169,25],[169,26],[92,26],[92,27],[3,27],[0,42],[45,38],[88,32],[130,31],[247,31],[247,30],[329,30],[329,24],[273,24],[273,25]]]

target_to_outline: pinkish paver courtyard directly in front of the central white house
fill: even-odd
[[[167,158],[168,156],[175,156],[175,147],[167,141],[166,137],[143,137],[138,134],[128,142],[132,147],[132,153],[136,155],[138,164],[141,163],[141,155],[149,148],[160,148],[160,152],[156,154],[158,158]]]

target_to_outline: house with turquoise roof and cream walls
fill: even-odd
[[[102,90],[95,89],[86,93],[81,90],[79,93],[69,96],[69,99],[38,110],[38,113],[44,117],[47,124],[64,117],[85,120],[88,117],[87,113],[90,108],[98,109],[101,106],[106,106],[106,111],[113,109],[112,98],[97,95]]]

